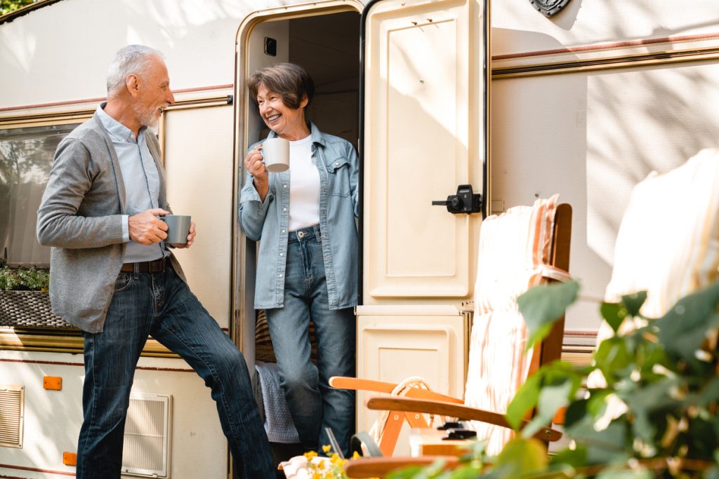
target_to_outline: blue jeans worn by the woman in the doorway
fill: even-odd
[[[265,313],[280,383],[302,444],[307,450],[329,445],[325,428],[330,427],[347,455],[354,434],[354,392],[331,388],[329,378],[354,376],[354,311],[329,309],[320,238],[319,225],[290,232],[285,307]],[[310,318],[317,366],[310,361]]]

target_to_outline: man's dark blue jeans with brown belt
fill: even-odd
[[[84,333],[77,477],[120,477],[130,388],[149,334],[182,356],[211,389],[239,476],[275,477],[244,357],[171,266],[155,274],[120,273],[104,330]]]

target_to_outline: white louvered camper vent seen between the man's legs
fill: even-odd
[[[122,447],[122,472],[170,477],[170,394],[130,394]]]

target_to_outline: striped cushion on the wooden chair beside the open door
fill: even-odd
[[[531,350],[524,353],[527,330],[517,298],[546,281],[544,265],[549,262],[558,197],[510,208],[482,223],[464,393],[467,406],[504,413],[526,380]],[[472,422],[471,427],[478,437],[487,438],[492,455],[513,437],[510,429],[484,422]]]

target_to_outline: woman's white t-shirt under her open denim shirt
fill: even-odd
[[[290,141],[290,231],[319,223],[319,189],[312,136]]]

